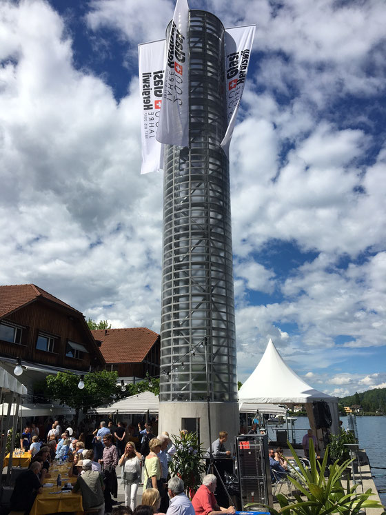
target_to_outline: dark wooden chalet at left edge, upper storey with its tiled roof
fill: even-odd
[[[17,357],[45,375],[104,363],[83,314],[34,284],[0,286],[0,359]]]

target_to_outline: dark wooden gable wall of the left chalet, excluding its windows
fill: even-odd
[[[0,340],[1,356],[19,356],[22,360],[39,365],[84,372],[90,369],[90,365],[97,368],[104,363],[83,315],[76,310],[39,298],[4,316],[1,321],[22,327],[21,343]],[[41,333],[54,338],[53,352],[37,349],[37,339]],[[68,341],[83,345],[88,353],[82,352],[80,358],[65,356]]]

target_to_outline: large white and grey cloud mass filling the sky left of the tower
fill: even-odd
[[[93,318],[159,330],[162,177],[139,176],[136,80],[116,104],[101,79],[74,70],[47,3],[3,9],[3,59],[17,62],[0,69],[1,239],[14,256],[0,281],[34,282]]]

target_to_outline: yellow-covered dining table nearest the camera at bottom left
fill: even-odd
[[[30,515],[46,515],[61,512],[73,512],[77,515],[83,515],[81,494],[74,494],[72,489],[63,489],[70,485],[73,487],[77,483],[77,476],[68,476],[71,468],[71,463],[51,465],[50,477],[44,479],[43,492],[37,494],[30,510]],[[58,474],[61,475],[60,487],[57,486]]]

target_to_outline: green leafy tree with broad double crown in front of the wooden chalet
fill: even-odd
[[[111,401],[112,396],[120,392],[116,385],[117,372],[89,372],[84,376],[84,388],[80,390],[80,377],[70,372],[58,372],[56,376],[47,376],[45,382],[48,395],[61,404],[67,404],[77,411],[90,409]]]

